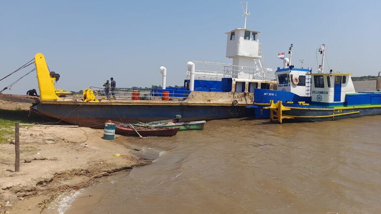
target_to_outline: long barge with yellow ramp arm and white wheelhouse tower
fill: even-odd
[[[107,120],[137,123],[182,115],[180,122],[186,122],[253,116],[246,107],[253,104],[254,89],[276,89],[275,70],[262,67],[260,32],[246,29],[246,17],[244,28],[226,34],[226,57],[233,59],[232,64],[190,61],[181,88],[166,87],[167,70],[160,66],[161,89],[115,88],[111,97],[101,87],[86,88],[82,96],[56,89],[60,76],[37,53],[33,63],[40,97],[33,101],[31,112],[53,123],[93,128],[103,128]]]

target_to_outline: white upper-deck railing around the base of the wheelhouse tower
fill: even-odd
[[[263,68],[259,61],[254,61],[254,66],[236,66],[229,63],[192,61],[195,65],[195,80],[221,81],[222,78],[232,77],[250,80],[275,80],[276,69]],[[191,73],[186,72],[186,79],[190,79]]]

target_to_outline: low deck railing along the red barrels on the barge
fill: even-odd
[[[191,91],[185,88],[104,88],[91,86],[97,99],[107,100],[168,100],[168,101],[184,101],[187,99]],[[108,95],[107,95],[108,91]]]

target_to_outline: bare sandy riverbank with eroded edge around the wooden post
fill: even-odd
[[[33,125],[29,107],[0,100],[1,214],[45,213],[62,194],[152,162],[128,142],[101,138],[102,129]],[[31,124],[20,125],[19,172],[14,172],[15,123]]]

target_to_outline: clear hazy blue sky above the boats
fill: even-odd
[[[381,70],[381,1],[249,0],[247,28],[262,32],[265,66],[282,66],[278,52],[294,44],[293,64],[316,69],[315,51],[327,44],[328,64],[354,76]],[[101,86],[114,77],[119,87],[182,85],[189,60],[231,62],[226,35],[243,27],[240,0],[36,0],[1,1],[1,77],[45,54],[61,75],[57,88]],[[27,70],[0,82],[4,87]],[[7,93],[38,88],[30,74]]]

